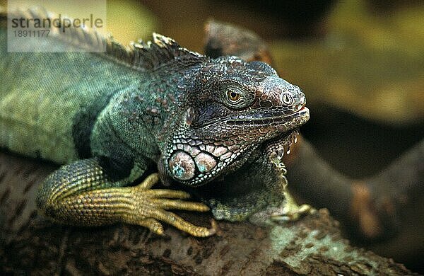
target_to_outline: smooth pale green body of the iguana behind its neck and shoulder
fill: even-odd
[[[7,52],[0,20],[0,147],[57,163],[77,159],[76,144],[89,144],[78,139],[142,74],[100,54],[63,52],[75,46],[54,38],[42,42],[62,52]]]

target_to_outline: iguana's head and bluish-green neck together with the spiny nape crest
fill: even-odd
[[[258,153],[279,157],[309,119],[300,88],[263,62],[211,59],[156,33],[129,47],[104,43],[107,55],[142,76],[114,101],[114,129],[129,156],[158,162],[165,185],[199,186]]]

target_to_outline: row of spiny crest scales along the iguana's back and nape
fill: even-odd
[[[6,10],[0,6],[0,23],[6,25]],[[42,7],[29,8],[28,10],[13,11],[14,16],[22,18],[57,18],[56,13],[47,11]],[[62,16],[62,18],[67,18]],[[72,20],[72,18],[69,18]],[[141,71],[156,69],[163,64],[169,64],[173,60],[179,62],[179,67],[193,65],[206,61],[208,58],[196,52],[181,47],[172,38],[153,33],[153,42],[130,42],[129,45],[122,45],[114,40],[112,35],[102,35],[96,30],[88,28],[69,28],[65,33],[59,32],[57,28],[50,28],[49,37],[66,42],[73,47],[81,47],[90,50],[105,47],[103,54],[114,61]],[[96,51],[94,51],[96,52]],[[98,53],[102,54],[102,53]]]

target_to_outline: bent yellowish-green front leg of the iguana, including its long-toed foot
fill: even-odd
[[[192,236],[211,236],[215,229],[195,226],[166,209],[205,212],[198,202],[183,201],[190,197],[177,190],[155,190],[158,174],[143,183],[124,187],[128,180],[112,181],[98,159],[76,161],[54,171],[37,194],[37,206],[56,222],[78,226],[100,226],[125,222],[146,226],[163,234],[160,222],[166,222]]]

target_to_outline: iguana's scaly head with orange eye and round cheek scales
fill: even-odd
[[[254,151],[273,144],[287,151],[309,119],[300,88],[263,62],[219,57],[184,76],[174,126],[161,149],[165,183],[203,185],[240,168]]]

